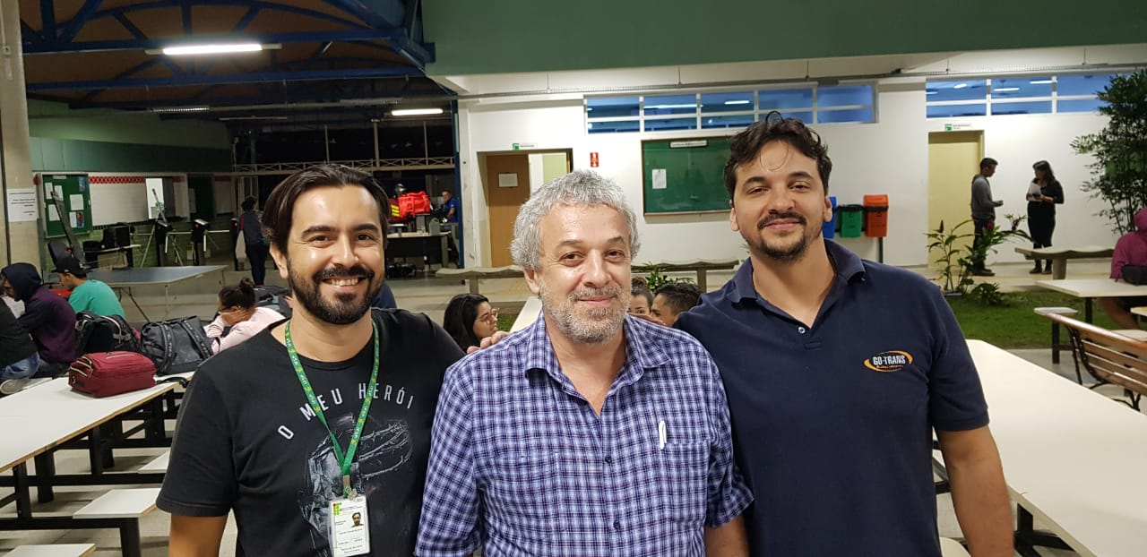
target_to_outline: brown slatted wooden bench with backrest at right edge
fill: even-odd
[[[1087,370],[1098,382],[1092,386],[1117,385],[1128,400],[1121,400],[1136,410],[1139,399],[1147,394],[1147,340],[1132,338],[1064,315],[1050,315],[1063,325],[1071,337],[1076,376],[1079,368]]]

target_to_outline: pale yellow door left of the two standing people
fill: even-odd
[[[972,219],[972,176],[980,172],[984,134],[974,132],[933,132],[928,134],[928,229],[944,221],[944,230]],[[968,222],[959,230],[972,234]],[[970,244],[970,240],[960,243]],[[938,252],[928,253],[936,266]]]

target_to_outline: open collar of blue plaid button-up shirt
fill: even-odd
[[[656,328],[658,327],[661,325],[638,317],[625,316],[625,322],[622,324],[624,330],[625,362],[617,374],[615,384],[637,381],[641,378],[645,370],[657,368],[670,361],[669,353],[665,352],[662,343],[657,342]],[[549,336],[546,334],[544,311],[538,313],[538,319],[522,331],[522,335],[525,337],[526,343],[525,361],[522,369],[526,372],[540,369],[549,374],[555,381],[568,381],[561,372],[557,355],[554,354],[554,346],[549,343]]]

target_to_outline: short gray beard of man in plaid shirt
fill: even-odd
[[[614,335],[622,328],[622,323],[625,322],[626,306],[619,301],[617,307],[579,309],[577,306],[582,298],[609,296],[615,300],[621,300],[621,287],[575,290],[564,299],[552,295],[546,288],[545,281],[541,281],[540,290],[543,312],[571,340],[583,344],[604,344],[614,338]]]

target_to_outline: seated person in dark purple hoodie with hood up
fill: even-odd
[[[40,367],[36,376],[50,377],[68,370],[76,360],[76,312],[68,301],[44,288],[40,273],[31,264],[17,262],[0,269],[5,295],[24,303],[16,321],[32,335]]]

